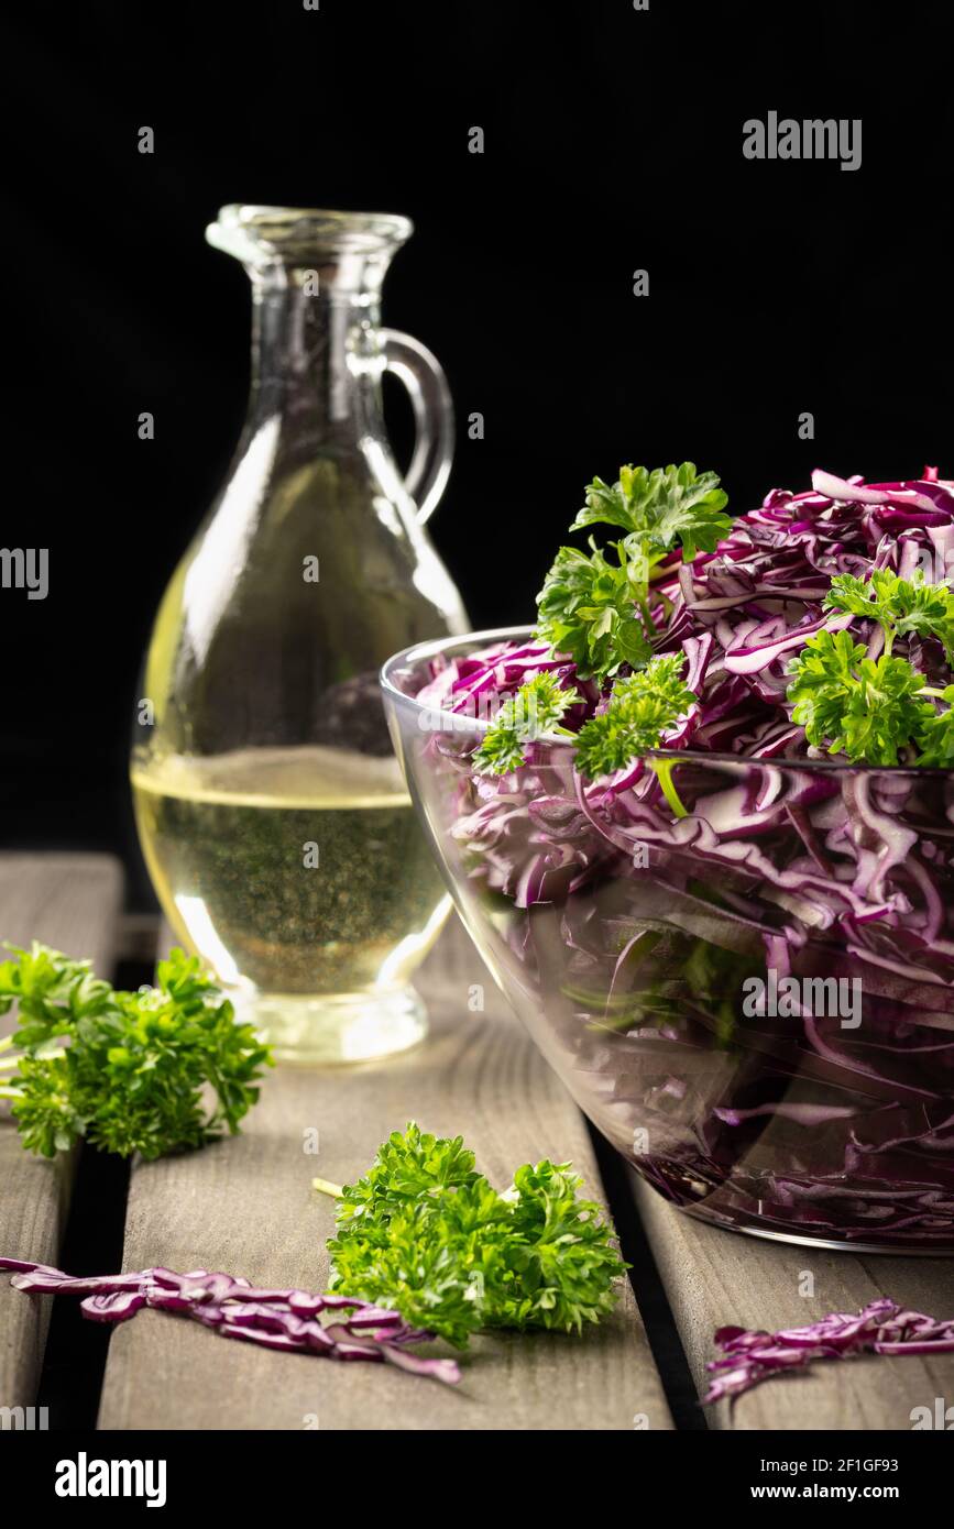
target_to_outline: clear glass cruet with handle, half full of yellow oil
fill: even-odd
[[[465,631],[423,523],[453,456],[437,361],[379,324],[405,217],[225,206],[252,283],[252,388],[228,480],[156,616],[131,784],[176,936],[287,1061],[401,1050],[448,910],[393,755],[378,667]],[[414,410],[407,479],[381,378]]]

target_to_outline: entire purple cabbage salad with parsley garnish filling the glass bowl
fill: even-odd
[[[529,638],[419,676],[463,896],[670,1199],[951,1246],[954,483],[725,506],[693,463],[595,479],[570,529],[615,531]]]

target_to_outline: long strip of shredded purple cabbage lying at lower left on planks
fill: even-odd
[[[124,1323],[148,1306],[191,1316],[225,1338],[240,1338],[264,1349],[394,1364],[413,1375],[451,1384],[460,1379],[454,1359],[427,1359],[408,1352],[408,1344],[431,1339],[433,1333],[408,1327],[398,1312],[350,1295],[258,1289],[248,1280],[208,1269],[193,1269],[191,1274],[142,1269],[138,1274],[70,1278],[60,1269],[20,1258],[0,1258],[0,1269],[17,1271],[11,1284],[18,1290],[83,1295],[80,1309],[90,1321]],[[320,1321],[321,1313],[329,1312],[336,1313],[335,1321]]]

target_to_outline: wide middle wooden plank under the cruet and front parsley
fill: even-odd
[[[485,1012],[468,1009],[483,985]],[[190,1157],[138,1165],[125,1268],[167,1264],[321,1289],[333,1205],[320,1173],[353,1180],[385,1135],[416,1118],[463,1133],[500,1183],[531,1157],[570,1157],[601,1197],[584,1122],[509,1014],[454,919],[427,968],[431,1035],[384,1064],[281,1069],[243,1136]],[[320,1133],[318,1156],[306,1133]],[[344,1365],[226,1342],[144,1312],[112,1338],[101,1428],[599,1430],[671,1420],[628,1286],[618,1313],[582,1339],[482,1338],[456,1388],[390,1368]]]

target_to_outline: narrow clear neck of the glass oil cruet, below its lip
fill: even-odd
[[[310,440],[353,419],[359,376],[375,370],[379,294],[342,291],[316,271],[252,274],[254,425],[275,414]]]

